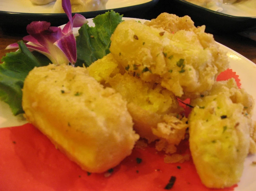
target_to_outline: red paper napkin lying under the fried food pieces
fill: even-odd
[[[237,78],[232,70],[225,72]],[[189,153],[187,141],[179,147]],[[55,149],[33,125],[1,128],[0,191],[163,191],[172,176],[176,181],[171,190],[175,191],[231,191],[236,187],[206,188],[192,160],[167,164],[164,157],[154,145],[135,148],[112,173],[90,174]]]

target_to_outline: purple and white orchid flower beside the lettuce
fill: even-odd
[[[23,40],[29,50],[41,52],[54,64],[69,64],[74,66],[77,61],[76,39],[73,35],[73,27],[81,27],[88,23],[81,14],[72,17],[70,0],[62,0],[62,8],[68,16],[69,22],[64,28],[51,27],[46,21],[33,21],[28,24],[28,36]],[[10,44],[6,49],[19,48],[17,43]]]

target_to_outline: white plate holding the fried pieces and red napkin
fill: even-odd
[[[123,20],[130,20],[131,18],[123,18]],[[142,19],[135,19],[144,22]],[[94,26],[92,19],[88,19],[89,26]],[[73,30],[74,35],[78,35],[78,28]],[[230,48],[220,44],[220,48],[227,51],[230,68],[239,75],[241,87],[251,94],[256,101],[256,64],[242,56],[241,54],[231,50]],[[253,120],[256,121],[256,105],[254,105]],[[17,126],[26,123],[21,116],[15,117],[12,115],[9,106],[0,101],[0,128]],[[235,191],[254,191],[256,190],[256,165],[252,162],[256,161],[256,155],[250,155],[246,158],[245,169],[241,181]]]

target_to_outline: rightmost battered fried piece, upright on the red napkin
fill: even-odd
[[[230,79],[216,82],[191,104],[189,144],[203,184],[224,188],[238,183],[252,141],[253,98]]]

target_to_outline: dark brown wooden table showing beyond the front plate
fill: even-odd
[[[0,58],[5,56],[7,52],[14,50],[5,50],[5,48],[12,43],[22,40],[24,34],[8,35],[0,29]],[[214,38],[217,42],[235,50],[242,56],[248,58],[256,64],[256,41],[242,37],[238,34],[215,34]]]

